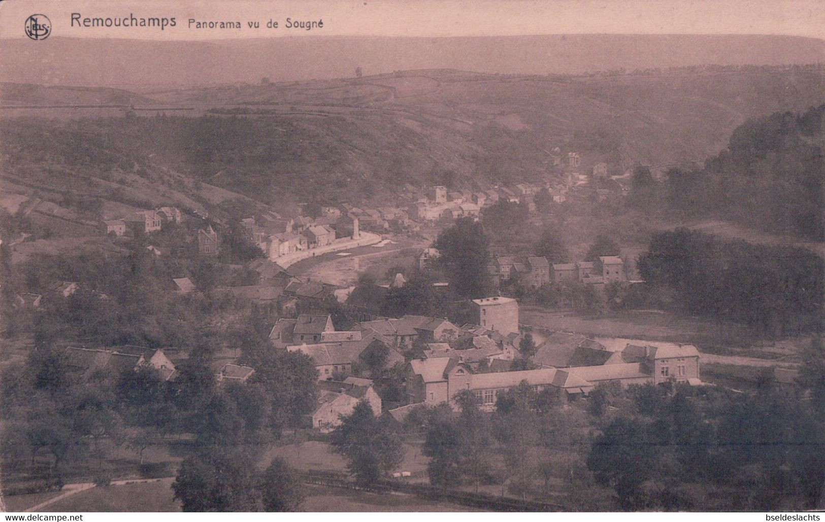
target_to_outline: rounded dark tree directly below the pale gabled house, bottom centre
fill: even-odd
[[[347,469],[361,484],[374,484],[403,461],[403,447],[389,426],[375,418],[370,403],[361,400],[342,416],[332,431],[332,449],[347,459]]]

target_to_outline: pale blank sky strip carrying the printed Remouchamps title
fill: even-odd
[[[85,17],[176,18],[175,27],[80,27]],[[757,34],[825,39],[823,0],[6,0],[0,38],[25,38],[26,18],[49,17],[51,35],[78,38],[213,40],[318,35],[471,36],[551,34]],[[323,21],[310,31],[286,18]],[[240,21],[242,29],[197,29],[188,20]],[[277,29],[267,28],[278,21]],[[258,28],[250,28],[257,21]]]

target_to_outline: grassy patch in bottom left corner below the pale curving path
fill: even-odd
[[[92,487],[63,500],[45,506],[50,512],[98,511],[180,511],[181,505],[172,498],[172,479],[158,482],[125,484],[123,486]]]

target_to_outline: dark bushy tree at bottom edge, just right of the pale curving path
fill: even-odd
[[[260,511],[257,486],[251,454],[214,448],[184,459],[172,491],[187,512]]]

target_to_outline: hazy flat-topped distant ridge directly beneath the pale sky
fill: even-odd
[[[2,40],[0,81],[122,87],[349,78],[396,70],[586,73],[607,69],[822,63],[825,41],[775,35],[309,36],[159,42]]]

